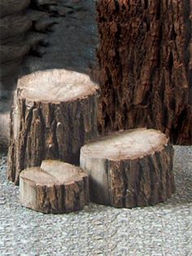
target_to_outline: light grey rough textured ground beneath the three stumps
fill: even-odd
[[[133,210],[90,204],[72,214],[20,205],[0,157],[0,255],[192,255],[192,147],[175,147],[177,192]]]

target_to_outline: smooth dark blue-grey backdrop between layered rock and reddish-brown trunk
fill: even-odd
[[[94,0],[58,0],[47,11],[57,24],[50,29],[46,53],[24,59],[23,73],[49,68],[66,68],[91,73],[96,66],[98,33]]]

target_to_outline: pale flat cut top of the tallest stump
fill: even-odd
[[[93,95],[98,85],[83,73],[65,69],[38,71],[18,81],[20,97],[31,101],[67,102]]]

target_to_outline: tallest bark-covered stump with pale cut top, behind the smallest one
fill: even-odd
[[[44,159],[78,165],[81,146],[98,135],[97,102],[98,86],[81,73],[54,69],[21,78],[11,111],[8,178],[18,184],[21,170]]]

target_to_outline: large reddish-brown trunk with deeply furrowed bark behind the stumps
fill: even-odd
[[[192,144],[191,1],[99,0],[99,130],[142,126]]]

